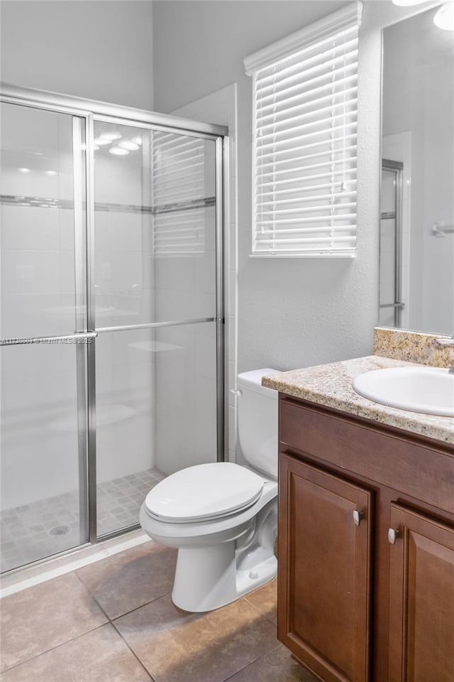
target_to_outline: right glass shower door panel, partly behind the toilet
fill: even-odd
[[[216,461],[215,141],[95,119],[98,535]]]

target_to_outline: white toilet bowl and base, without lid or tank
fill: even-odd
[[[277,482],[266,481],[260,499],[231,517],[200,524],[167,524],[140,508],[140,524],[157,542],[178,548],[174,604],[205,612],[260,588],[277,573]]]

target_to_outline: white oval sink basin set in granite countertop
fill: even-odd
[[[389,367],[360,374],[353,389],[400,410],[454,417],[454,374],[439,367]]]

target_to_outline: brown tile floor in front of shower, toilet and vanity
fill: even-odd
[[[276,639],[276,585],[203,614],[153,541],[4,597],[0,682],[315,682]]]

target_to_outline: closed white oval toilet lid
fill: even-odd
[[[169,523],[209,521],[250,507],[262,488],[262,477],[238,464],[201,464],[158,483],[145,498],[145,507],[151,516]]]

